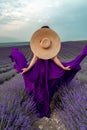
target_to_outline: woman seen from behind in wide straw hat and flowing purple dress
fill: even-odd
[[[61,63],[57,58],[60,38],[55,31],[44,26],[33,34],[30,47],[34,56],[29,65],[17,49],[12,50],[10,57],[16,62],[14,68],[24,78],[28,94],[34,96],[38,116],[49,118],[53,94],[62,84],[69,83],[81,69],[80,63],[87,55],[87,46],[74,60]]]

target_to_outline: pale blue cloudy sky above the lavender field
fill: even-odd
[[[61,41],[87,40],[87,0],[0,0],[0,42],[29,41],[43,25]]]

